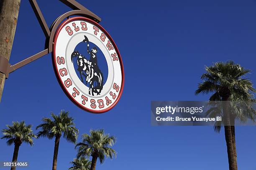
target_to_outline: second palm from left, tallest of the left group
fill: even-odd
[[[61,135],[70,143],[77,142],[77,135],[78,129],[74,126],[74,118],[69,117],[69,112],[65,112],[61,110],[59,115],[54,115],[51,113],[51,118],[44,117],[41,125],[38,125],[36,129],[41,128],[41,131],[38,132],[38,138],[46,137],[52,139],[55,137],[55,144],[54,144],[54,157],[52,163],[52,170],[56,170],[57,168],[57,157],[58,157],[58,150],[59,150],[59,140]]]

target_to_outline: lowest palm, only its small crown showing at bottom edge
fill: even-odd
[[[74,160],[70,163],[72,163],[73,166],[70,167],[69,170],[90,170],[92,162],[84,157],[81,157],[80,159],[74,158]]]

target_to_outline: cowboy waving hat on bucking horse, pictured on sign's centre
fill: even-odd
[[[84,55],[80,54],[78,51],[74,51],[71,54],[71,61],[73,58],[77,57],[77,70],[80,74],[80,79],[84,83],[83,76],[85,77],[85,83],[89,82],[89,95],[96,93],[100,95],[103,88],[103,74],[97,65],[97,47],[93,47],[89,50],[89,40],[84,35],[84,40],[82,42],[87,43],[87,52],[90,55],[90,60],[87,60]]]

